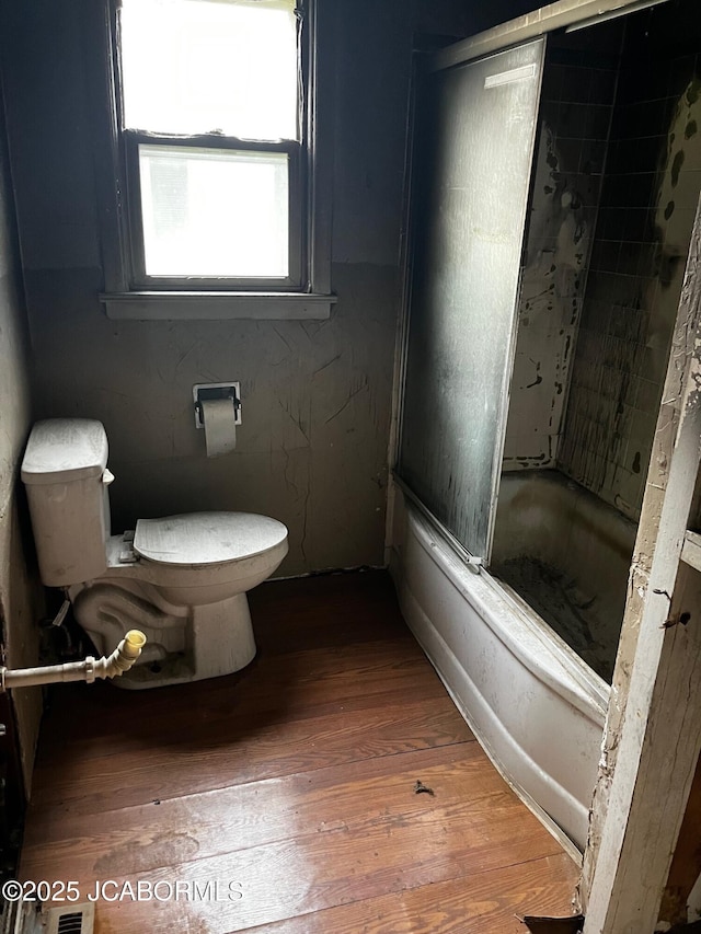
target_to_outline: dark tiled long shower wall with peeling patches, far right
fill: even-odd
[[[694,5],[673,2],[627,22],[556,458],[561,470],[632,519],[640,517],[701,187]]]

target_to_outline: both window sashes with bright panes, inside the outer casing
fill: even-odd
[[[294,0],[122,0],[134,278],[301,279]]]

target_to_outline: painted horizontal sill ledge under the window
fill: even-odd
[[[101,292],[107,318],[129,321],[325,321],[333,295],[306,292]]]

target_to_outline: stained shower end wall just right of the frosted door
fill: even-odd
[[[599,203],[622,27],[548,48],[505,470],[554,466]]]

